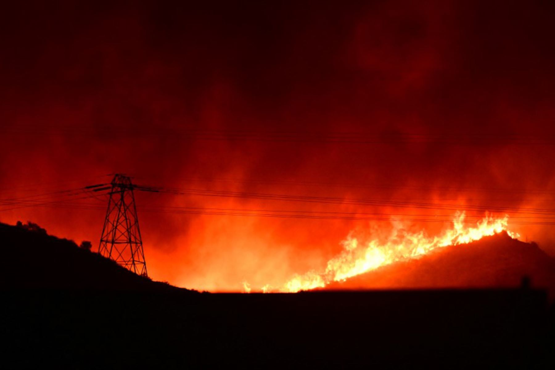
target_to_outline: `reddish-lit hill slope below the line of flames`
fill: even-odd
[[[514,288],[521,284],[523,276],[531,279],[533,287],[548,288],[551,294],[555,293],[555,259],[535,243],[524,243],[501,233],[441,248],[327,288]]]

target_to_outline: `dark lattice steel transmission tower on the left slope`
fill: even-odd
[[[98,253],[134,273],[148,276],[133,188],[130,177],[114,176]]]

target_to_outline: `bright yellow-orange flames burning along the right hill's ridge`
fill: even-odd
[[[350,235],[342,242],[344,250],[327,262],[324,272],[309,271],[296,275],[279,291],[299,292],[322,288],[331,282],[344,281],[393,262],[418,258],[437,248],[470,243],[502,231],[506,231],[512,238],[519,237],[518,234],[508,231],[507,215],[494,218],[486,214],[476,227],[465,226],[464,219],[464,212],[457,213],[453,219],[453,228],[433,238],[427,236],[424,231],[408,233],[402,228],[393,229],[385,243],[376,240],[361,243],[359,239]]]

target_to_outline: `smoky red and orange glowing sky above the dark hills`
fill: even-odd
[[[0,198],[122,172],[152,186],[470,204],[512,217],[511,207],[552,209],[553,10],[541,1],[4,6]],[[140,207],[453,213],[147,193],[137,202],[151,276],[216,290],[279,284],[321,267],[350,231],[387,222]],[[7,207],[2,222],[98,243],[100,209]],[[555,253],[549,219],[521,217],[533,224],[512,228]],[[445,224],[408,227],[433,234]]]

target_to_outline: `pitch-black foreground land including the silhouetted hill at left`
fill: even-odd
[[[130,277],[59,240],[0,228],[4,251],[17,242],[23,256],[41,247],[58,261],[57,271],[39,269],[42,280],[2,261],[2,368],[555,365],[555,315],[543,290],[197,293]],[[17,251],[11,258],[24,261]],[[87,273],[65,266],[74,261]],[[98,263],[114,281],[97,276]]]

